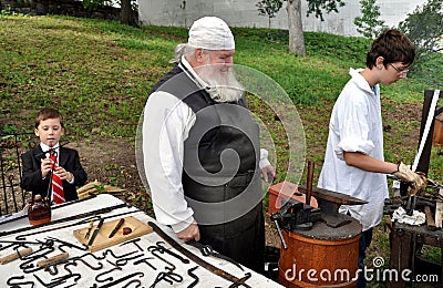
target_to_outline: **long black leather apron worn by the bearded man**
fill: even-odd
[[[200,241],[260,272],[265,225],[259,132],[245,99],[217,103],[179,66],[153,91],[175,95],[196,115],[184,144],[182,184]]]

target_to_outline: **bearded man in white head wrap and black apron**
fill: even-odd
[[[234,53],[222,19],[193,23],[146,102],[143,163],[158,223],[260,272],[261,178],[275,169],[233,72]]]

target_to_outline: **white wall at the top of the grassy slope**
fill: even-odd
[[[339,13],[323,14],[320,21],[313,14],[306,17],[306,0],[302,1],[303,30],[321,31],[341,35],[359,35],[353,19],[360,16],[358,0],[347,0]],[[230,27],[268,27],[268,18],[258,16],[258,0],[140,0],[140,20],[146,24],[189,27],[203,16],[217,16]],[[416,6],[426,0],[378,0],[381,20],[388,27],[396,25],[406,18]],[[271,19],[271,28],[287,29],[288,16],[286,2],[276,18]]]

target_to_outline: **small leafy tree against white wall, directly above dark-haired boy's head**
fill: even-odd
[[[384,21],[380,20],[380,7],[377,0],[360,0],[362,17],[356,17],[353,23],[357,25],[357,32],[369,39],[375,39],[385,28]]]

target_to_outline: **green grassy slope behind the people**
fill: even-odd
[[[187,39],[182,28],[134,29],[115,21],[56,16],[0,14],[0,128],[32,132],[35,113],[54,105],[66,117],[68,141],[111,136],[133,146],[150,90],[172,68],[168,60],[175,45]],[[316,161],[316,184],[331,107],[349,80],[349,68],[364,66],[370,42],[307,32],[308,56],[301,58],[288,52],[287,31],[233,28],[233,32],[236,64],[268,75],[295,104],[305,135],[300,145],[306,146],[306,157]],[[442,59],[435,55],[423,71],[413,71],[405,81],[382,88],[388,161],[413,160],[423,91],[441,85],[443,74],[436,69]],[[286,131],[259,100],[250,97],[250,107],[271,133],[277,181],[282,181],[288,167]],[[442,158],[435,148],[430,176],[442,181]],[[117,173],[115,181],[119,177]],[[305,176],[301,183],[306,183]],[[136,205],[148,200],[143,194],[135,198]],[[379,243],[385,250],[385,237],[382,233],[378,237],[375,247]]]

